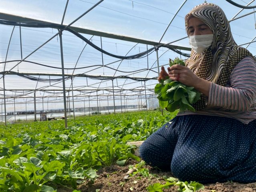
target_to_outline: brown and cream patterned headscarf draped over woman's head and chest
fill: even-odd
[[[219,6],[204,3],[194,7],[185,16],[186,30],[191,17],[199,18],[209,26],[214,38],[212,46],[202,54],[198,55],[195,51],[191,51],[191,55],[186,61],[187,67],[202,79],[226,86],[236,64],[247,55],[252,56],[252,54],[247,49],[237,46],[230,30],[230,24]],[[193,106],[197,110],[204,109],[206,96],[201,95],[201,100]]]

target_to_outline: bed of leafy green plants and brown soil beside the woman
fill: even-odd
[[[132,152],[175,115],[148,111],[81,117],[68,119],[68,128],[64,121],[1,126],[0,191],[147,192],[151,185],[161,187],[171,173],[142,164]],[[201,191],[256,192],[256,184],[208,184]]]

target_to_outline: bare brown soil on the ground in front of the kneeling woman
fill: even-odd
[[[150,166],[144,166],[149,169],[149,173],[157,174],[159,177],[137,178],[129,176],[125,180],[125,174],[129,171],[129,165],[135,165],[138,162],[128,160],[125,166],[113,164],[102,168],[97,172],[97,179],[94,183],[86,181],[81,184],[77,190],[81,192],[148,192],[149,185],[155,183],[165,184],[163,176],[171,177],[170,172],[163,172]],[[205,189],[200,192],[256,192],[256,183],[241,184],[237,182],[204,184]],[[58,192],[73,192],[67,188],[57,188]],[[177,192],[178,186],[171,186],[169,189],[163,189],[163,192]]]

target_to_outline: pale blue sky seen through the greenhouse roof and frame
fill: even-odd
[[[36,20],[42,20],[47,22],[53,22],[60,24],[62,21],[63,12],[66,5],[65,0],[1,0],[0,1],[0,13],[13,14],[17,16],[33,18]],[[73,20],[78,18],[81,14],[86,12],[97,0],[69,0],[65,19],[63,24],[68,25]],[[185,15],[196,5],[205,2],[204,0],[104,0],[96,8],[87,13],[83,18],[79,19],[72,26],[79,28],[85,28],[90,30],[101,31],[110,34],[117,34],[120,36],[128,36],[143,40],[150,40],[159,42],[163,36],[168,24],[171,20],[171,25],[167,29],[163,36],[161,43],[175,42],[181,38],[186,37],[184,17]],[[237,8],[225,0],[212,0],[207,1],[219,5],[225,12],[228,20],[231,20],[241,9]],[[249,0],[235,0],[236,3],[246,5]],[[182,7],[181,5],[184,4]],[[256,2],[251,4],[256,5]],[[180,8],[181,7],[181,8]],[[179,12],[177,10],[180,8]],[[243,10],[238,16],[242,16],[253,9]],[[177,15],[174,17],[174,15]],[[1,19],[1,18],[0,18]],[[234,40],[238,45],[246,44],[255,38],[255,16],[250,14],[238,20],[230,22]],[[13,30],[13,26],[6,26],[0,24],[0,62],[12,61],[21,59],[20,49],[20,28],[16,26]],[[48,41],[52,36],[57,33],[56,29],[52,28],[21,28],[21,39],[22,39],[22,58],[24,59],[36,48]],[[11,36],[12,34],[12,36]],[[87,39],[90,39],[93,44],[101,47],[101,38],[98,36],[91,36],[83,34]],[[77,38],[69,32],[63,32],[63,54],[65,68],[77,68],[80,69],[67,69],[65,73],[69,74],[86,74],[86,75],[108,75],[118,76],[125,75],[129,77],[157,77],[157,57],[156,52],[153,51],[148,57],[133,60],[123,60],[110,57],[94,48],[86,45],[81,39]],[[8,44],[10,41],[10,47]],[[184,46],[189,48],[188,39],[179,40],[172,45]],[[246,47],[247,45],[244,45]],[[102,47],[109,53],[116,55],[134,55],[146,51],[147,48],[152,46],[146,46],[143,44],[136,44],[134,42],[127,42],[122,40],[115,40],[110,38],[102,38]],[[255,43],[248,46],[249,51],[253,55],[256,55]],[[8,50],[8,54],[7,54]],[[183,51],[189,53],[189,51]],[[7,54],[7,57],[6,57]],[[81,55],[80,55],[81,54]],[[159,54],[159,65],[168,64],[169,58],[174,58],[180,55],[168,50],[166,48],[160,48]],[[79,56],[80,55],[80,56]],[[51,76],[50,74],[58,73],[61,74],[61,59],[60,59],[60,39],[55,37],[50,42],[42,46],[35,53],[31,54],[26,60],[39,63],[22,62],[18,66],[14,67],[18,61],[10,62],[4,65],[0,63],[1,71],[11,70],[16,72],[33,72],[33,73],[47,73],[47,76],[41,76],[44,79],[56,79],[61,78],[57,76]],[[185,57],[181,56],[182,59]],[[47,66],[42,66],[47,65]],[[105,65],[105,66],[100,66]],[[51,66],[51,67],[48,67]],[[57,68],[52,68],[57,67]],[[151,70],[149,70],[151,69]],[[136,72],[137,71],[137,72]],[[35,76],[38,77],[38,76]],[[0,77],[1,78],[1,77]],[[156,80],[143,82],[133,81],[132,79],[118,79],[112,81],[101,81],[97,79],[89,79],[84,77],[77,77],[73,80],[73,88],[77,89],[74,95],[78,98],[82,98],[86,95],[88,98],[96,97],[101,95],[102,98],[110,97],[113,95],[111,92],[112,87],[119,90],[117,95],[131,95],[129,97],[137,97],[138,93],[144,91],[144,88],[151,89],[148,91],[149,94],[153,94],[152,89],[154,88]],[[71,89],[71,80],[65,82],[66,88]],[[63,96],[62,93],[55,93],[49,91],[49,93],[40,91],[40,89],[62,89],[62,82],[37,82],[24,79],[16,75],[6,75],[5,87],[10,90],[7,91],[7,96],[16,97],[17,95],[27,94],[30,98],[23,99],[21,103],[26,101],[33,102],[34,92],[26,92],[26,90],[36,89],[36,96],[38,96],[38,102],[42,102],[42,95],[58,95]],[[3,78],[0,79],[0,94],[3,94]],[[101,89],[99,92],[91,91],[95,89]],[[105,89],[105,92],[104,90]],[[107,89],[107,90],[106,90]],[[125,90],[126,89],[126,90]],[[128,90],[130,89],[130,90]],[[141,91],[131,91],[141,90]],[[11,91],[19,90],[19,92]],[[24,91],[25,90],[25,93]],[[84,91],[83,93],[81,92]],[[123,90],[123,91],[122,91]],[[56,91],[58,92],[58,91]],[[0,102],[1,102],[0,97]],[[56,99],[58,100],[58,99]],[[104,100],[104,99],[103,99]],[[18,100],[16,99],[16,102]],[[9,99],[10,110],[13,109],[13,99]],[[77,100],[77,103],[79,101]],[[83,103],[83,102],[82,102]],[[135,103],[131,99],[131,103]],[[82,105],[82,104],[81,104]],[[93,105],[97,105],[94,103]],[[103,101],[102,105],[107,105],[106,101]],[[24,104],[20,104],[20,110],[24,109]],[[51,105],[52,108],[61,108],[63,104],[56,103]],[[30,109],[32,109],[31,105]],[[41,105],[40,105],[41,107]],[[39,107],[39,108],[40,108]]]

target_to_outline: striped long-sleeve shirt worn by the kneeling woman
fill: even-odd
[[[237,119],[244,124],[256,119],[256,63],[244,57],[233,69],[228,85],[211,83],[207,106],[201,111],[178,115],[214,115]]]

